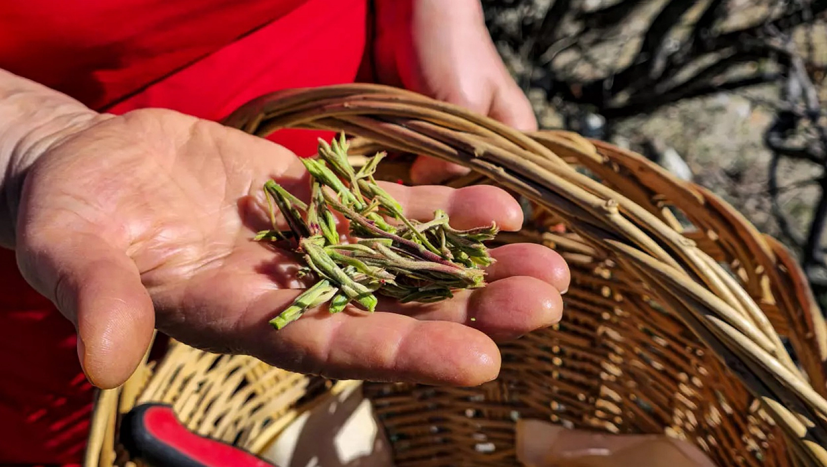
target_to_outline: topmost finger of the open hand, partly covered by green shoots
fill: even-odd
[[[442,209],[457,229],[472,229],[490,225],[491,222],[496,222],[504,231],[518,231],[523,226],[523,210],[517,200],[502,188],[490,185],[409,187],[398,183],[380,183],[402,205],[404,215],[418,221],[428,222],[437,209]]]

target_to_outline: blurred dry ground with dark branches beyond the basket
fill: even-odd
[[[827,0],[483,0],[541,128],[710,188],[827,310]]]

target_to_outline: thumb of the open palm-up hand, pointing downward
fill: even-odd
[[[55,303],[78,331],[89,381],[115,388],[135,371],[155,328],[155,312],[135,263],[93,233],[39,231],[21,236],[23,277]]]

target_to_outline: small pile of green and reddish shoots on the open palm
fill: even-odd
[[[373,312],[376,294],[401,303],[433,303],[459,289],[485,286],[482,268],[494,260],[483,242],[496,236],[496,224],[460,231],[443,211],[429,222],[404,217],[373,176],[385,153],[356,171],[347,149],[342,134],[332,145],[319,140],[318,158],[302,160],[311,176],[309,204],[273,180],[265,183],[273,229],[259,232],[256,241],[289,243],[306,263],[299,274],[318,279],[270,324],[281,329],[328,302],[332,313],[349,303]],[[275,207],[289,231],[276,229]],[[333,212],[349,221],[347,240],[337,231]]]

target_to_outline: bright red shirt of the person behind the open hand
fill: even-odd
[[[264,93],[357,80],[368,69],[368,1],[0,2],[0,69],[98,111],[165,107],[218,120]],[[317,136],[272,139],[309,155]],[[93,390],[74,328],[2,249],[0,379],[0,465],[79,462]]]

